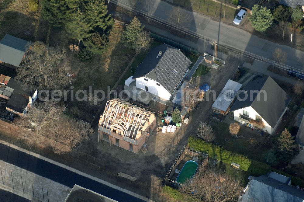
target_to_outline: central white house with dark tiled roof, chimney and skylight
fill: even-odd
[[[170,45],[153,47],[133,76],[136,88],[170,100],[187,75],[191,63],[181,50]]]

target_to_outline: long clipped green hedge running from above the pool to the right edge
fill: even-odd
[[[208,143],[203,141],[202,139],[195,138],[193,136],[188,139],[189,147],[193,148],[197,151],[204,152],[208,154],[210,157],[216,156],[217,160],[220,160],[226,164],[235,162],[240,165],[240,169],[249,172],[254,176],[265,175],[269,171],[280,173],[284,176],[291,177],[293,185],[299,185],[304,187],[304,180],[298,177],[291,176],[285,172],[272,168],[270,165],[249,159],[247,156],[241,155],[239,153],[230,152],[220,146],[214,145],[212,143]]]

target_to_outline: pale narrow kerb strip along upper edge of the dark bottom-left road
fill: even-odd
[[[74,168],[71,168],[70,166],[67,166],[67,165],[64,165],[64,164],[62,164],[62,163],[56,162],[56,161],[54,161],[54,160],[52,160],[52,159],[46,158],[46,157],[44,157],[44,156],[42,156],[42,155],[39,155],[39,154],[36,154],[36,153],[34,153],[34,152],[30,152],[30,151],[28,151],[28,150],[26,150],[26,149],[23,149],[23,148],[18,147],[18,146],[16,146],[16,145],[10,144],[10,143],[8,143],[8,142],[6,142],[6,141],[0,140],[0,143],[3,144],[3,145],[9,146],[9,147],[11,147],[11,148],[14,148],[14,149],[16,149],[16,150],[19,150],[19,151],[21,151],[21,152],[24,152],[24,153],[26,153],[26,154],[32,155],[32,156],[34,156],[34,157],[36,157],[36,158],[40,158],[40,159],[42,159],[42,160],[44,160],[44,161],[47,161],[47,162],[49,162],[49,163],[52,163],[52,164],[54,164],[54,165],[60,166],[60,167],[62,167],[62,168],[64,168],[64,169],[67,169],[67,170],[69,170],[69,171],[75,172],[75,173],[77,173],[77,174],[79,174],[79,175],[81,175],[81,176],[85,176],[85,177],[87,177],[87,178],[89,178],[89,179],[95,180],[95,181],[97,181],[97,182],[99,182],[99,183],[102,183],[102,184],[104,184],[104,185],[106,185],[106,186],[112,187],[113,189],[116,189],[116,190],[122,191],[122,192],[124,192],[124,193],[127,193],[127,194],[129,194],[129,195],[131,195],[131,196],[134,196],[134,197],[136,197],[136,198],[139,198],[139,199],[141,199],[141,200],[144,200],[144,201],[147,201],[147,202],[155,202],[155,201],[150,200],[150,199],[147,199],[146,197],[143,197],[143,196],[141,196],[141,195],[139,195],[139,194],[137,194],[137,193],[131,192],[131,191],[126,190],[126,189],[123,189],[123,188],[121,188],[121,187],[119,187],[119,186],[116,186],[116,185],[114,185],[114,184],[111,184],[111,183],[109,183],[109,182],[107,182],[107,181],[105,181],[105,180],[102,180],[102,179],[99,179],[99,178],[97,178],[97,177],[88,175],[88,174],[86,174],[86,173],[84,173],[84,172],[81,172],[81,171],[79,171],[79,170],[76,170],[76,169],[74,169]]]

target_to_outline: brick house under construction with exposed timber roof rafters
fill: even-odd
[[[100,116],[98,142],[138,153],[156,127],[154,113],[121,99],[109,100]]]

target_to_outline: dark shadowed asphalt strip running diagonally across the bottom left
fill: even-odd
[[[77,184],[117,201],[143,201],[120,190],[116,190],[112,187],[96,182],[95,180],[81,176],[75,172],[24,152],[20,152],[19,150],[10,148],[3,144],[0,144],[0,159],[71,188]]]

